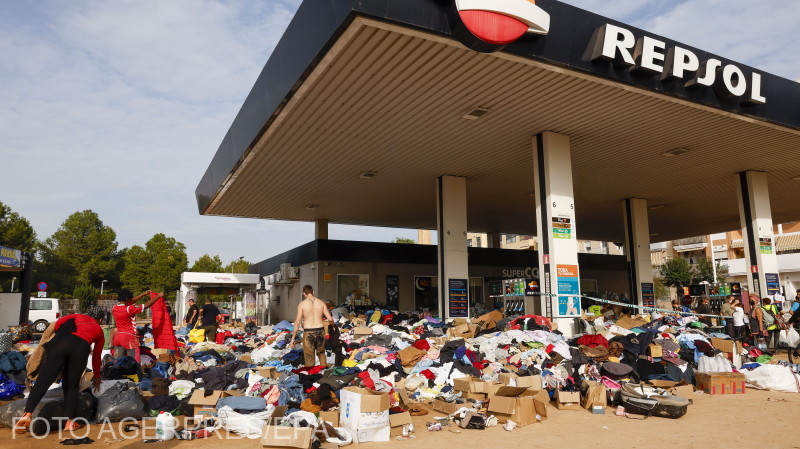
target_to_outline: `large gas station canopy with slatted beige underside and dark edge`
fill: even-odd
[[[581,239],[622,241],[626,198],[647,200],[654,241],[739,228],[748,170],[769,173],[775,223],[800,220],[800,84],[537,5],[547,35],[485,53],[450,1],[304,1],[197,187],[200,212],[432,229],[435,179],[452,175],[467,179],[470,231],[532,235],[532,139],[553,131],[570,137]],[[667,74],[681,51],[719,61],[716,83],[648,71],[634,48],[628,64],[629,34],[657,42]],[[608,39],[616,54],[598,56]]]

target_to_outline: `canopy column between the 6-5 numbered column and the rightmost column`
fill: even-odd
[[[647,200],[628,198],[622,202],[622,210],[625,220],[625,257],[628,260],[631,303],[655,308]]]

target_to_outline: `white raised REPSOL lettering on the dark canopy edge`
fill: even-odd
[[[687,88],[713,87],[718,96],[750,104],[764,104],[763,82],[760,73],[749,75],[734,64],[719,59],[701,61],[688,48],[641,36],[616,25],[605,24],[598,28],[588,53],[592,61],[611,60],[618,66],[639,73],[660,76],[662,82],[683,81]]]

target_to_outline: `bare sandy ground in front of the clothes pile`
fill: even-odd
[[[592,415],[588,411],[565,411],[548,407],[548,418],[541,424],[532,424],[507,432],[502,427],[486,430],[448,430],[428,432],[425,422],[434,416],[415,417],[416,438],[388,443],[363,444],[364,449],[377,448],[436,448],[458,449],[492,448],[498,444],[515,447],[575,447],[575,448],[800,448],[796,425],[800,422],[800,394],[775,393],[747,389],[744,395],[709,396],[695,394],[693,405],[686,416],[677,419],[629,419],[614,414],[607,408],[605,415]],[[447,429],[447,428],[446,428]],[[754,432],[757,429],[762,431]],[[85,429],[83,430],[85,432]],[[110,432],[99,436],[98,426],[89,430],[92,445],[110,449],[210,449],[221,447],[260,448],[259,440],[211,438],[195,441],[168,441],[145,444],[138,439],[111,442]],[[120,437],[119,429],[115,429]],[[79,435],[82,436],[82,435]],[[103,440],[107,440],[104,442]],[[757,441],[757,444],[755,443]],[[755,444],[755,446],[754,446]],[[57,435],[37,440],[30,435],[15,436],[10,429],[0,429],[0,447],[14,448],[64,448]],[[324,446],[325,447],[325,446]],[[332,446],[331,446],[332,447]]]

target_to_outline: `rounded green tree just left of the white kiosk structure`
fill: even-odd
[[[120,279],[123,288],[135,294],[150,289],[170,297],[180,288],[181,273],[188,269],[186,246],[172,237],[156,234],[144,248],[135,245],[125,251]]]

